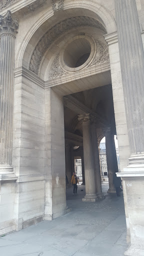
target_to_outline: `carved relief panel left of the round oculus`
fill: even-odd
[[[59,54],[57,54],[50,68],[49,79],[62,76],[63,74],[66,74],[66,72],[61,68],[59,64]]]

